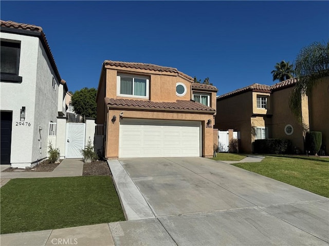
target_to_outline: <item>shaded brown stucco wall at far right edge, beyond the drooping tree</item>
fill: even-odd
[[[329,77],[313,89],[308,103],[310,131],[322,132],[322,145],[329,154]]]

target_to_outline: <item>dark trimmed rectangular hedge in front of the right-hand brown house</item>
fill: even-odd
[[[257,139],[253,142],[254,152],[259,154],[287,153],[291,146],[288,139]]]

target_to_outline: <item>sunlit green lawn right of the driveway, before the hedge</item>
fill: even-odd
[[[329,162],[323,160],[267,156],[261,162],[232,165],[329,197]]]

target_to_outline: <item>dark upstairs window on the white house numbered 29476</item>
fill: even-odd
[[[1,41],[1,81],[22,82],[19,75],[21,44]]]

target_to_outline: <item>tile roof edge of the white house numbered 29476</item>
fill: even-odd
[[[42,43],[45,46],[45,50],[46,50],[46,53],[48,55],[48,59],[50,60],[50,63],[52,64],[53,70],[55,71],[56,75],[58,76],[59,81],[62,80],[61,75],[58,72],[58,68],[57,68],[55,60],[53,58],[53,55],[51,53],[46,35],[43,32],[43,29],[41,27],[31,25],[31,24],[17,23],[17,22],[13,22],[12,20],[7,20],[7,21],[6,20],[0,20],[0,26],[5,27],[5,28],[21,29],[21,30],[31,31],[31,32],[34,32],[34,33],[40,33],[39,35],[41,35],[41,37],[39,36],[39,38],[41,39]],[[63,85],[66,85],[65,88],[67,89],[67,84],[63,84]]]

